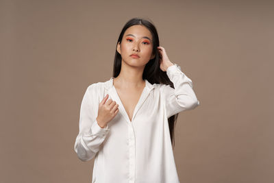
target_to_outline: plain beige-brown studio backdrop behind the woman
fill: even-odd
[[[274,182],[271,1],[1,1],[0,182],[91,182],[73,146],[86,88],[135,16],[155,23],[201,105],[182,112],[183,183]]]

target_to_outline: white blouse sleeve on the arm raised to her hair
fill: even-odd
[[[191,110],[199,106],[200,102],[192,89],[192,80],[181,71],[179,66],[169,66],[166,69],[166,75],[174,86],[172,88],[168,84],[162,85],[168,118],[183,110]]]

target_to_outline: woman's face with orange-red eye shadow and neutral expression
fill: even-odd
[[[121,44],[117,45],[117,51],[121,54],[122,61],[131,66],[144,66],[154,58],[152,55],[152,35],[147,27],[133,25],[123,35]],[[139,58],[130,55],[137,54]]]

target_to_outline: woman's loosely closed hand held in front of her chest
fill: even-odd
[[[119,112],[118,103],[108,99],[108,94],[105,95],[103,100],[99,103],[97,122],[99,127],[104,128]],[[106,101],[106,102],[105,102]]]

